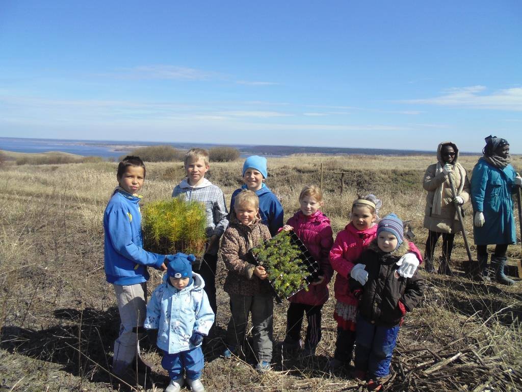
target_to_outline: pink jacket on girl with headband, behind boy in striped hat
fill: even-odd
[[[355,266],[354,262],[361,256],[364,248],[370,245],[376,236],[376,224],[373,224],[366,230],[358,230],[351,222],[337,234],[334,246],[330,250],[330,263],[334,270],[337,271],[334,293],[338,301],[348,305],[358,305],[358,300],[350,292],[348,285],[350,271]],[[419,261],[422,262],[422,255],[419,249],[411,241],[409,241],[409,244],[410,251],[415,253]]]

